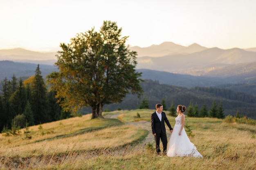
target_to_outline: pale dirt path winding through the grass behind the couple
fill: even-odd
[[[114,114],[114,115],[104,115],[105,118],[111,118],[111,119],[117,119],[118,114]],[[146,136],[146,138],[144,139],[144,141],[142,143],[147,144],[148,142],[150,143],[155,143],[155,139],[154,136],[152,134],[152,130],[151,130],[151,123],[148,121],[137,121],[137,122],[125,122],[127,124],[130,125],[135,125],[135,126],[139,126],[145,130],[148,130],[148,136]],[[166,129],[167,130],[167,129]],[[168,131],[168,130],[167,130]],[[171,133],[167,132],[167,139],[169,139],[171,136]]]

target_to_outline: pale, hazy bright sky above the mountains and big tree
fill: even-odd
[[[49,51],[104,20],[130,46],[256,47],[256,0],[0,0],[0,49]]]

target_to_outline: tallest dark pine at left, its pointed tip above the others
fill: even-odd
[[[36,68],[36,74],[32,83],[31,98],[36,125],[49,122],[49,116],[47,115],[47,88],[43,76],[41,76],[39,64]]]

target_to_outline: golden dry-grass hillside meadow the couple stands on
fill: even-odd
[[[186,116],[189,138],[203,158],[167,157],[155,153],[154,111],[104,112],[105,119],[92,120],[87,114],[31,126],[16,136],[0,134],[0,169],[256,170],[255,125]],[[168,120],[173,127],[175,117]]]

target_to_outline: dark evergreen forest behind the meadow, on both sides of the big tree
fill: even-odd
[[[67,119],[92,111],[89,107],[76,113],[64,111],[57,103],[56,92],[48,90],[39,65],[34,76],[25,79],[16,78],[13,74],[10,80],[1,80],[1,85],[1,132]],[[256,96],[253,95],[252,88],[243,90],[238,88],[239,85],[186,88],[160,84],[150,79],[142,81],[140,85],[144,91],[141,98],[135,94],[127,94],[121,103],[107,104],[103,111],[155,109],[156,103],[162,103],[165,106],[164,112],[175,115],[177,105],[182,104],[187,107],[186,114],[191,117],[207,116],[222,119],[232,115],[256,119]],[[246,93],[250,91],[253,93]]]

